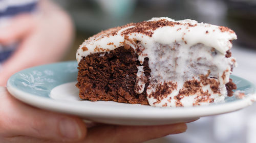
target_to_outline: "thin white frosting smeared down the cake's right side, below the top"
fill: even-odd
[[[163,98],[160,103],[156,103],[157,99],[148,97],[148,102],[153,106],[176,106],[175,96],[183,88],[183,84],[187,80],[199,79],[199,75],[206,75],[210,70],[209,77],[215,77],[216,81],[220,82],[220,94],[213,93],[209,85],[202,85],[204,92],[210,94],[209,98],[213,98],[214,102],[223,101],[227,95],[225,84],[229,81],[231,74],[230,65],[234,65],[233,58],[225,58],[225,55],[219,51],[211,51],[211,47],[203,44],[190,46],[185,43],[176,43],[171,45],[157,44],[155,50],[148,50],[147,52],[149,61],[148,65],[151,68],[151,77],[158,82],[172,81],[177,83],[177,89],[172,91],[166,98]],[[198,58],[200,58],[198,60]],[[177,59],[175,61],[175,59]],[[223,73],[225,78],[223,80]],[[218,79],[218,80],[217,80]],[[153,83],[147,89],[147,94],[154,93],[156,85]],[[180,100],[183,106],[191,106],[197,104],[196,95],[182,96]],[[200,105],[203,102],[199,103]],[[208,102],[207,102],[208,103]]]

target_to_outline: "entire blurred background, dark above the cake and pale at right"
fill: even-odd
[[[239,67],[233,74],[256,84],[256,1],[253,0],[55,0],[74,20],[76,38],[63,59],[75,60],[78,46],[88,37],[110,27],[152,17],[228,26],[238,36],[232,54]],[[204,143],[256,142],[256,105],[225,115],[205,117],[188,124],[187,132],[147,141]]]

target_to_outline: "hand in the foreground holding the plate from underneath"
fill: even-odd
[[[0,142],[143,142],[186,130],[186,124],[87,128],[78,118],[31,107],[0,87]]]

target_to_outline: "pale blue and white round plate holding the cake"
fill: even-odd
[[[112,101],[80,100],[75,87],[77,62],[62,62],[25,69],[14,74],[7,83],[8,91],[18,100],[42,109],[68,113],[83,119],[118,125],[163,125],[188,122],[205,116],[242,109],[256,100],[251,82],[231,75],[237,84],[236,95],[224,102],[193,107],[152,107]]]

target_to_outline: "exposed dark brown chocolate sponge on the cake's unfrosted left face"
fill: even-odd
[[[146,88],[150,68],[145,58],[142,66],[146,75],[143,93],[135,93],[138,54],[130,46],[122,46],[108,52],[99,52],[83,58],[78,65],[78,83],[81,99],[92,101],[116,101],[148,105]]]

